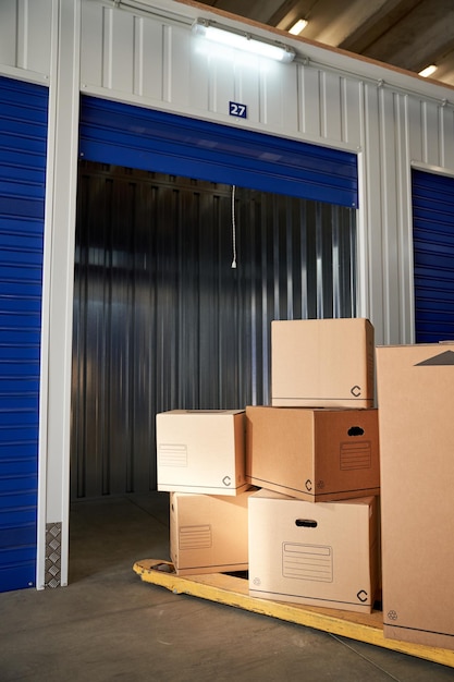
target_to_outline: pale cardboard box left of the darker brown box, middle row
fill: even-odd
[[[238,495],[245,478],[244,410],[156,415],[158,490]]]

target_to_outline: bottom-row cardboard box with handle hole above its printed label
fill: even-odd
[[[249,498],[249,594],[370,613],[378,575],[377,498],[314,504]]]

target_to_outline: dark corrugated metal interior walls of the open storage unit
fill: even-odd
[[[269,400],[272,319],[356,313],[356,211],[82,162],[72,497],[156,488],[155,415]]]

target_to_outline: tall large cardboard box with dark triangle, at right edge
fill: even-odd
[[[384,636],[454,649],[454,345],[377,349]]]

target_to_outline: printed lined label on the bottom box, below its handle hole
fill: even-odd
[[[283,543],[282,574],[284,577],[332,583],[332,548],[327,545]]]

